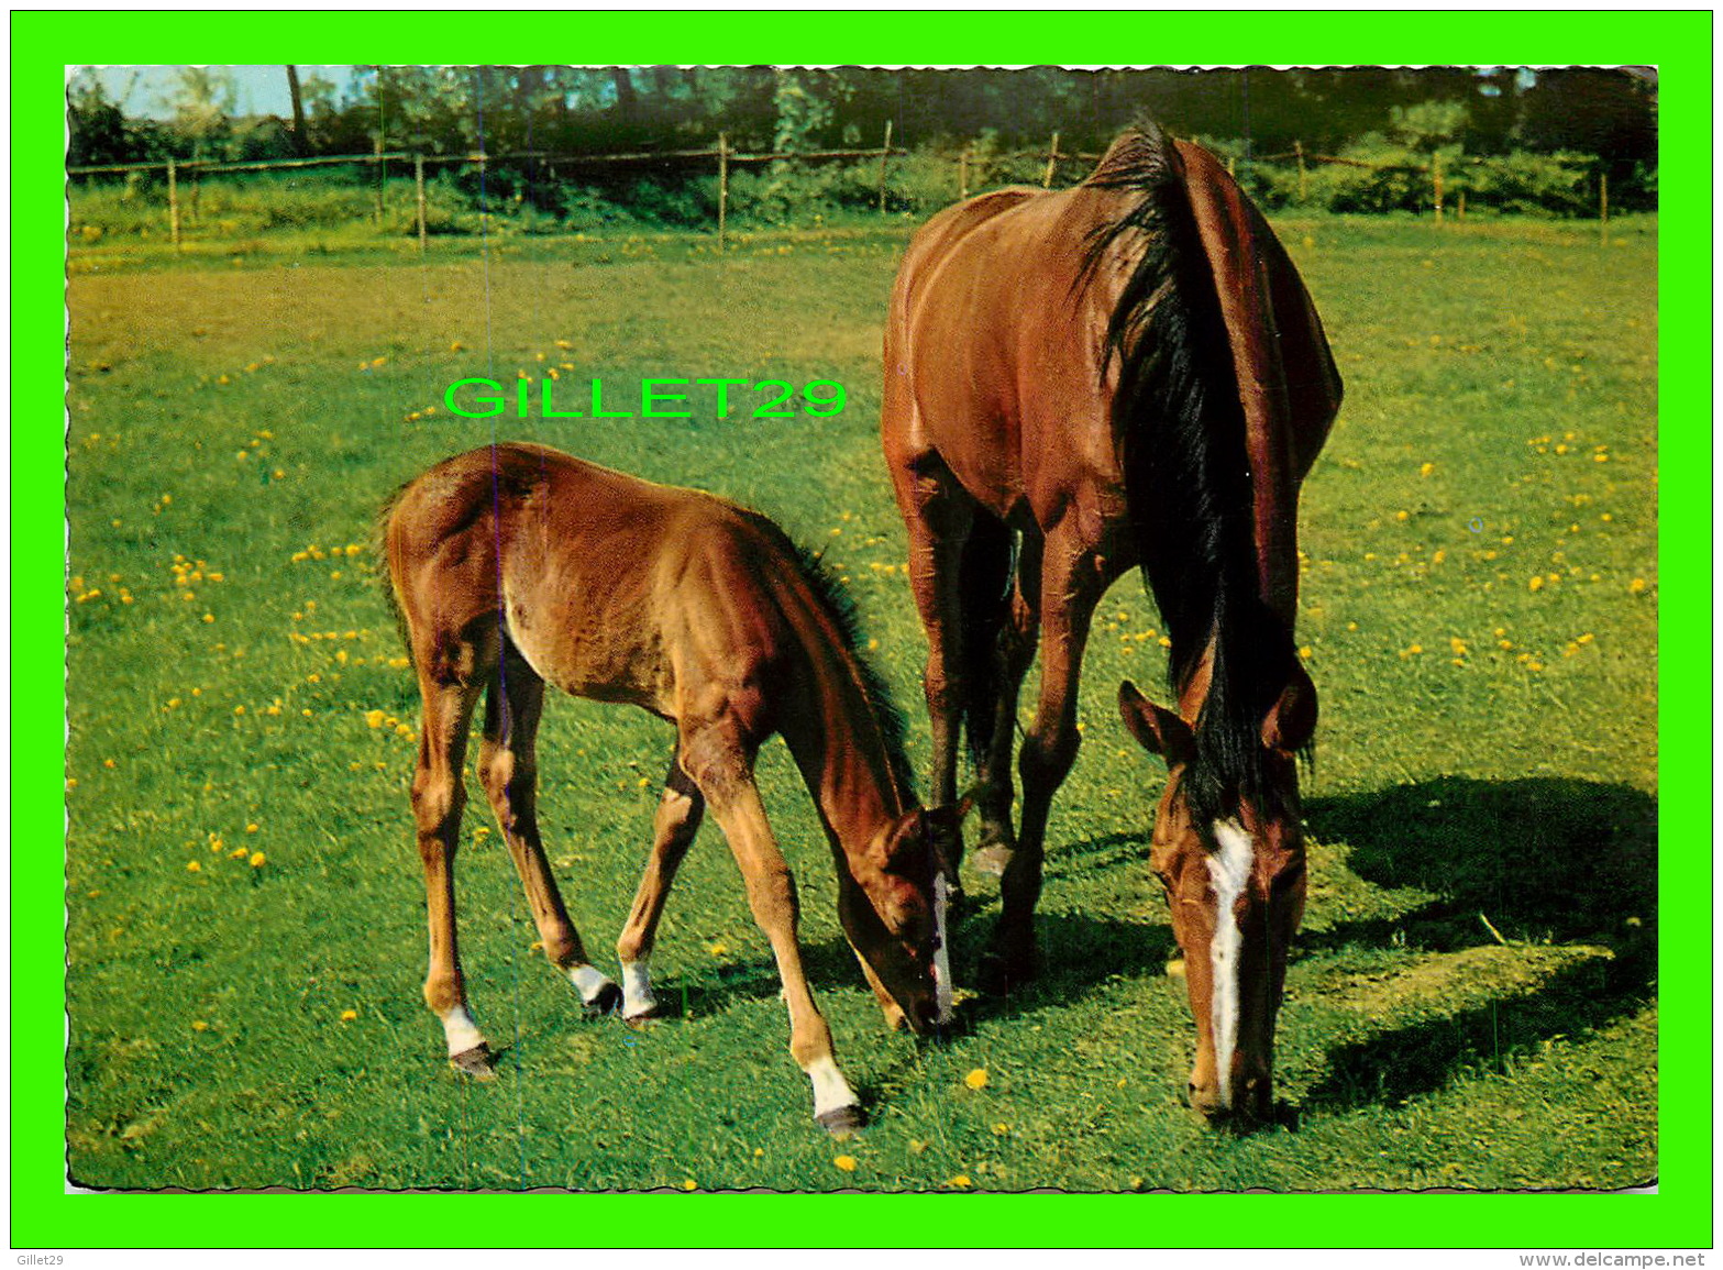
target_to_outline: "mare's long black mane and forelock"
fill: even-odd
[[[1263,601],[1253,539],[1246,417],[1184,160],[1153,124],[1113,145],[1089,184],[1134,195],[1096,231],[1084,277],[1127,260],[1106,331],[1103,374],[1118,358],[1113,429],[1149,591],[1172,641],[1179,691],[1213,643],[1210,688],[1184,789],[1203,822],[1260,803],[1261,725],[1294,674],[1292,632]],[[1117,264],[1113,267],[1118,267]]]

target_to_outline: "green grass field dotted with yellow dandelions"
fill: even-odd
[[[1113,712],[1160,686],[1135,579],[1103,607],[1054,806],[1049,972],[942,1048],[886,1034],[781,743],[768,810],[810,974],[874,1124],[837,1146],[786,1051],[765,939],[708,824],[655,956],[681,1017],[582,1022],[474,801],[474,1008],[424,1008],[407,786],[417,694],[370,520],[491,439],[443,389],[555,369],[837,379],[837,417],[539,420],[531,438],[724,493],[827,550],[908,707],[925,653],[877,450],[905,233],[513,240],[71,269],[71,1175],[100,1187],[905,1191],[1623,1187],[1656,1175],[1656,224],[1280,226],[1347,403],[1306,484],[1299,643],[1322,689],[1311,894],[1277,1093],[1247,1137],[1180,1103],[1194,1032],[1148,870],[1163,770]],[[153,252],[153,253],[152,253]],[[560,341],[560,343],[558,343]],[[696,398],[706,402],[706,398]],[[434,412],[429,410],[434,407]],[[1030,684],[1032,689],[1032,684]],[[1161,693],[1161,700],[1165,694]],[[1032,691],[1025,693],[1025,705]],[[541,817],[605,953],[667,727],[557,700]],[[960,931],[960,984],[996,910]],[[965,1077],[987,1072],[982,1089]],[[853,1172],[839,1168],[853,1158]]]

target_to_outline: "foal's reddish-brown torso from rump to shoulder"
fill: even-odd
[[[401,491],[386,546],[415,662],[482,674],[501,632],[575,696],[682,717],[782,648],[781,534],[694,489],[548,446],[482,446]],[[477,650],[477,651],[476,651]]]

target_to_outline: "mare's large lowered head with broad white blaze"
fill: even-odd
[[[1304,913],[1296,753],[1316,727],[1316,689],[1294,667],[1261,722],[1260,789],[1235,791],[1230,810],[1215,817],[1194,813],[1185,788],[1197,755],[1191,724],[1129,681],[1118,710],[1132,736],[1166,760],[1149,862],[1166,887],[1196,1017],[1191,1105],[1204,1115],[1265,1118],[1287,949]]]

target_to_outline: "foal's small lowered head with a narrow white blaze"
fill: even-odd
[[[932,1032],[951,1020],[946,896],[961,856],[958,806],[911,808],[839,870],[837,917],[886,1020]]]

